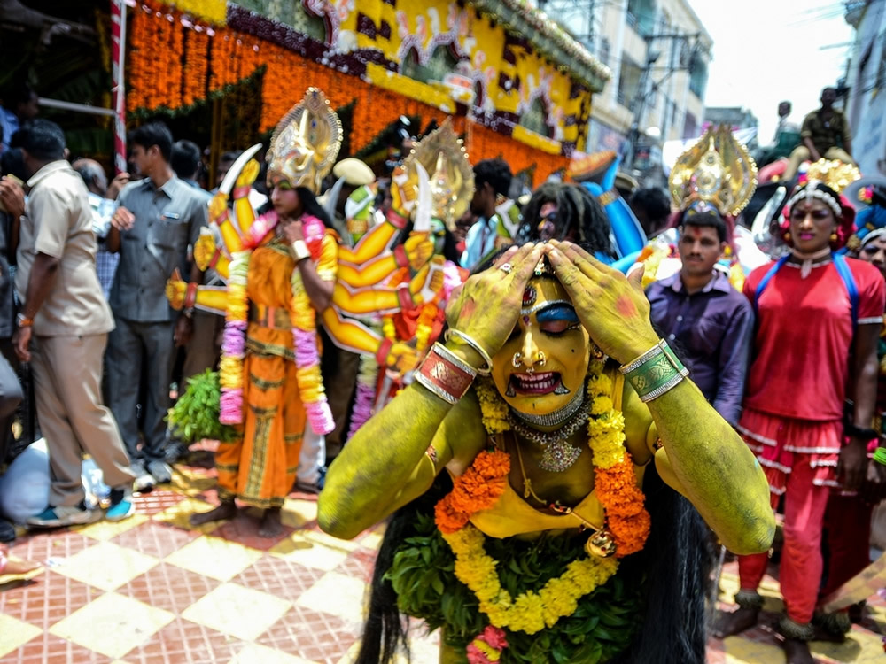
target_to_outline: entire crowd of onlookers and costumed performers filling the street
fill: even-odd
[[[162,123],[131,132],[132,173],[109,182],[17,110],[0,151],[0,469],[15,473],[12,421],[33,409],[49,489],[27,524],[126,519],[193,437],[167,421],[173,383],[188,398],[207,381],[220,504],[193,524],[239,503],[276,537],[292,490],[320,494],[337,537],[391,517],[362,662],[405,644],[400,612],[443,627],[445,661],[527,661],[541,632],[558,661],[701,662],[711,543],[739,555],[725,637],[758,622],[777,511],[779,628],[788,661],[811,662],[810,639],[848,629],[815,609],[869,563],[886,487],[886,191],[856,213],[833,182],[793,180],[809,158],[851,162],[822,137],[832,102],[791,156],[783,255],[750,274],[746,164],[715,191],[687,176],[673,200],[634,192],[634,223],[671,227],[678,260],[664,274],[646,252],[623,274],[621,221],[587,187],[521,191],[501,159],[468,165],[447,125],[380,182],[338,160],[319,90],[264,164],[221,155],[212,190],[198,145]],[[680,167],[740,160],[729,140],[711,130]],[[585,622],[600,610],[639,617]]]

